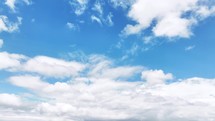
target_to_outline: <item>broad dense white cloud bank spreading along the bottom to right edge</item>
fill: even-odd
[[[27,113],[30,117],[25,117],[26,120],[36,116],[41,117],[41,120],[51,120],[48,117],[59,116],[58,120],[69,121],[211,121],[215,118],[214,79],[189,78],[154,86],[147,86],[143,82],[105,79],[93,81],[89,85],[77,79],[65,85],[71,88],[61,93],[50,93],[41,88],[43,98],[47,97],[49,100],[39,102],[30,111],[24,110],[26,113],[32,110],[34,112]],[[21,118],[24,115],[16,117]]]

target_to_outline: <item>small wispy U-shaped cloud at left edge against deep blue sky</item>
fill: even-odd
[[[14,32],[19,30],[19,26],[22,24],[22,18],[17,17],[16,22],[10,22],[7,16],[0,16],[0,32]]]

